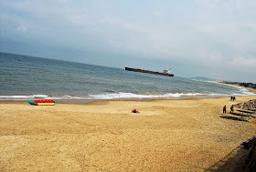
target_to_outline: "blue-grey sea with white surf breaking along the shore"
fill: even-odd
[[[174,75],[156,76],[125,71],[124,66],[95,66],[0,52],[0,101],[58,99],[83,103],[254,95],[244,88]]]

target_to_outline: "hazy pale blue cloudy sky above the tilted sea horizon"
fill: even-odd
[[[256,83],[255,0],[1,0],[0,51]]]

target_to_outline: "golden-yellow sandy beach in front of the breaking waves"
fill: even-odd
[[[256,96],[237,96],[240,103]],[[256,124],[229,97],[30,106],[0,103],[1,171],[230,170]],[[133,108],[141,111],[133,114]]]

